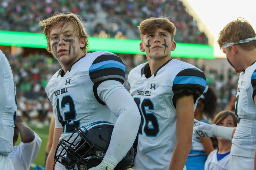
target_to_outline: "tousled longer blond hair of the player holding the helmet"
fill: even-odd
[[[73,13],[57,13],[45,20],[39,21],[39,25],[41,27],[44,27],[44,35],[47,39],[47,51],[49,51],[49,38],[50,38],[50,32],[53,29],[53,26],[55,25],[62,25],[61,29],[63,28],[63,25],[65,23],[73,24],[74,26],[74,32],[79,37],[79,39],[85,38],[85,45],[82,48],[82,51],[84,54],[86,54],[86,50],[88,49],[88,34],[85,31],[84,26],[82,25],[81,18],[77,14]],[[68,26],[67,24],[67,26]]]

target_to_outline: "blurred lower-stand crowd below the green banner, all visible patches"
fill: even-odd
[[[10,62],[16,83],[18,114],[22,115],[25,121],[34,122],[39,127],[42,124],[49,124],[52,107],[44,89],[51,76],[61,68],[58,61],[48,53],[36,51],[28,55],[12,55],[9,52],[6,52],[5,55]],[[134,56],[117,55],[123,59],[127,75],[131,69],[140,64],[133,62]],[[141,63],[143,62],[144,60],[141,60]],[[214,89],[218,97],[217,110],[223,110],[229,104],[233,105],[239,75],[232,69],[227,73],[215,69],[201,69],[207,77],[207,84]],[[127,81],[124,86],[129,90]]]

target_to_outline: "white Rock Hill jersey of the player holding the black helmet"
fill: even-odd
[[[121,58],[106,51],[88,53],[65,75],[60,69],[52,76],[45,91],[53,107],[55,128],[63,127],[60,140],[67,140],[75,128],[93,122],[115,123],[117,117],[97,95],[98,85],[105,80],[125,80]]]

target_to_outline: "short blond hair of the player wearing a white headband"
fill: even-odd
[[[228,42],[238,43],[240,40],[245,40],[255,36],[256,34],[251,24],[244,18],[237,18],[237,20],[228,23],[220,31],[218,44],[220,49],[222,49],[222,46]],[[256,41],[240,43],[238,45],[243,47],[245,50],[250,51],[256,48]]]

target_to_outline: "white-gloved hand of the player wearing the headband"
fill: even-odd
[[[207,124],[194,119],[193,137],[216,137],[217,125]]]

